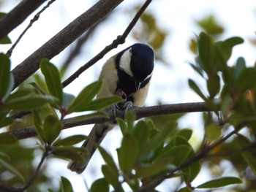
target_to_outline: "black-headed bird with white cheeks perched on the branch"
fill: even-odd
[[[154,50],[143,43],[135,43],[113,55],[102,66],[99,74],[102,88],[97,93],[97,98],[121,93],[126,99],[122,105],[125,108],[123,110],[129,109],[131,105],[143,107],[154,71],[154,60]],[[67,168],[81,174],[89,164],[97,146],[114,126],[115,123],[95,124],[89,139],[82,145],[87,150],[87,153],[82,154],[84,161],[70,161]]]

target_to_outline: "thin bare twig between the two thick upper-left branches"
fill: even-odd
[[[52,4],[54,1],[56,0],[50,0],[48,2],[48,4],[45,5],[45,7],[42,7],[42,9],[37,12],[36,15],[34,15],[34,18],[30,20],[29,25],[25,28],[25,30],[20,34],[20,36],[18,37],[18,39],[16,40],[16,42],[12,45],[12,47],[10,48],[10,50],[7,51],[7,55],[9,55],[9,57],[12,55],[12,51],[14,50],[14,48],[16,47],[16,45],[18,45],[18,42],[20,42],[20,39],[23,37],[24,34],[26,34],[26,31],[29,30],[29,28],[31,28],[31,26],[33,25],[34,22],[36,22],[39,19],[39,16],[41,15],[42,12],[45,11],[45,9],[47,9],[48,7],[50,7],[50,4]]]

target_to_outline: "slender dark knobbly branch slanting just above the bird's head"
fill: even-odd
[[[90,61],[88,61],[86,64],[81,66],[75,73],[73,73],[70,77],[67,78],[67,80],[64,80],[62,82],[63,87],[66,87],[69,85],[72,81],[74,81],[76,78],[79,77],[80,74],[82,74],[86,69],[89,69],[92,65],[94,65],[97,61],[99,61],[101,58],[104,57],[105,54],[107,54],[110,50],[113,50],[118,45],[123,44],[125,42],[125,39],[127,38],[130,31],[132,31],[132,28],[135,26],[135,24],[140,19],[140,16],[143,14],[143,12],[146,10],[148,5],[151,3],[152,0],[147,0],[142,7],[140,7],[140,10],[137,12],[135,17],[132,19],[131,23],[129,23],[129,26],[125,29],[124,33],[121,36],[118,36],[113,42],[106,46],[101,52],[99,52],[94,58],[91,58]]]

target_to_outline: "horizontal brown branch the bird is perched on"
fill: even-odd
[[[136,119],[140,118],[146,118],[156,115],[167,115],[167,114],[176,114],[176,113],[184,113],[184,112],[208,112],[211,111],[206,103],[204,102],[198,102],[198,103],[183,103],[183,104],[164,104],[164,105],[157,105],[157,106],[151,106],[151,107],[133,107],[132,112],[135,112]],[[124,119],[124,113],[118,114],[118,118]],[[64,129],[66,128],[72,128],[75,126],[84,126],[89,124],[95,124],[95,123],[105,123],[110,122],[110,118],[105,117],[96,117],[96,118],[90,118],[86,120],[80,120],[78,122],[72,122],[72,119],[74,118],[68,118],[64,119]],[[72,123],[68,123],[72,122]],[[13,131],[7,132],[9,134],[14,135],[18,139],[26,139],[29,137],[34,137],[37,135],[34,127],[28,127],[28,128],[18,128]],[[1,135],[1,134],[0,134]]]

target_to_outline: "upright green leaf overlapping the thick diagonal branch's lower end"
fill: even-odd
[[[42,58],[40,62],[42,74],[45,76],[45,82],[52,96],[59,99],[60,104],[63,101],[63,91],[61,77],[57,67],[49,62],[47,58]]]

